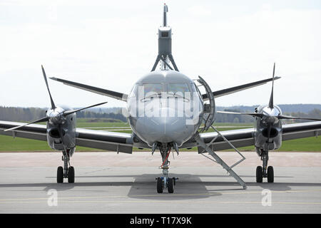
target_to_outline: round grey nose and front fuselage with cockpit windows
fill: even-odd
[[[149,146],[193,137],[203,118],[203,100],[195,83],[178,71],[153,71],[139,79],[127,100],[133,133]]]

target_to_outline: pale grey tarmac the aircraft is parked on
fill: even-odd
[[[232,165],[234,152],[219,152]],[[76,152],[75,183],[56,183],[59,152],[0,152],[0,213],[320,213],[321,152],[272,152],[275,182],[255,182],[262,165],[255,152],[233,170],[247,190],[222,167],[198,155],[170,155],[175,192],[156,192],[159,154]]]

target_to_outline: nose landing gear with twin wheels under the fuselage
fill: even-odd
[[[174,192],[174,186],[176,184],[177,177],[170,178],[168,177],[168,165],[170,162],[168,161],[168,156],[170,155],[170,147],[168,145],[161,145],[159,147],[161,151],[161,156],[163,160],[163,164],[161,165],[161,169],[163,170],[163,177],[157,177],[157,192],[163,193],[164,188],[167,188],[168,193]]]

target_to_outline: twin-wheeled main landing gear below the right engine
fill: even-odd
[[[256,167],[256,182],[262,183],[263,177],[267,178],[267,182],[274,182],[274,170],[272,166],[267,167],[267,161],[269,160],[268,151],[260,151],[261,160],[263,166]]]

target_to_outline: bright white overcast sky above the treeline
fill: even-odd
[[[48,107],[41,73],[129,93],[151,71],[164,1],[0,1],[0,105]],[[68,3],[66,3],[68,2]],[[165,1],[180,72],[220,90],[272,76],[275,103],[321,103],[321,1]],[[125,103],[49,80],[55,103]],[[271,84],[216,99],[268,103]]]

